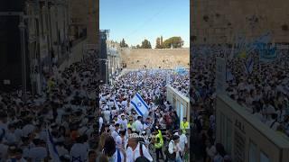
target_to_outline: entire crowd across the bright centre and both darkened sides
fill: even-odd
[[[195,160],[231,161],[215,141],[216,57],[227,58],[228,96],[288,138],[288,51],[277,52],[267,62],[251,54],[248,72],[247,58],[229,58],[216,48],[192,57],[191,77],[188,71],[138,70],[100,87],[93,55],[63,71],[53,68],[42,94],[28,93],[23,101],[19,91],[0,93],[0,161],[55,161],[51,141],[60,161],[185,161],[189,148]],[[172,109],[166,85],[190,96],[191,119]],[[148,106],[143,115],[130,103],[136,93]]]

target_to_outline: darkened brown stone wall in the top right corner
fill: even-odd
[[[231,43],[241,34],[247,40],[267,31],[272,41],[288,42],[287,0],[191,0],[191,40],[195,44]]]

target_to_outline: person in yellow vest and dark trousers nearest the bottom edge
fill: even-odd
[[[155,148],[156,161],[159,161],[160,159],[163,159],[163,135],[162,131],[159,130],[157,127],[155,128],[154,134],[155,134],[154,148]]]

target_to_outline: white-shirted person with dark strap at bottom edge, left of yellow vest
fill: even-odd
[[[145,157],[147,160],[153,161],[153,157],[150,155],[148,149],[137,138],[132,137],[128,139],[127,146],[126,162],[135,162],[135,159],[138,157]]]

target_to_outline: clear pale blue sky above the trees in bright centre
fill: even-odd
[[[123,38],[128,46],[149,40],[155,47],[163,40],[181,36],[190,47],[190,0],[100,0],[99,28],[110,30],[109,40]]]

